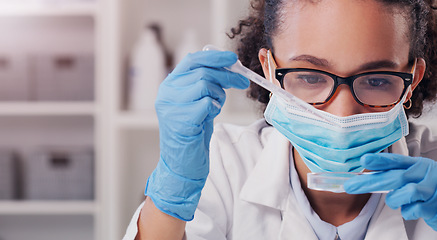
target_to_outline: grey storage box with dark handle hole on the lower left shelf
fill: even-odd
[[[23,199],[93,200],[94,158],[89,147],[46,147],[23,159]]]

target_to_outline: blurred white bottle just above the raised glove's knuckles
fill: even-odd
[[[197,33],[194,29],[187,29],[182,40],[179,42],[175,54],[174,65],[177,65],[188,53],[194,53],[202,50],[202,46],[199,44]]]

